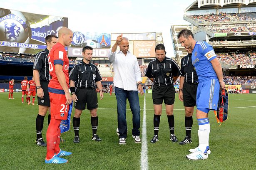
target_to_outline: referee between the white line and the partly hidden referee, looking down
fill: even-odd
[[[179,66],[174,60],[165,56],[166,51],[164,44],[158,44],[155,48],[156,59],[149,63],[146,76],[154,82],[152,98],[154,103],[154,136],[151,143],[158,141],[158,131],[160,116],[162,114],[162,103],[164,100],[166,106],[166,114],[170,128],[170,140],[177,142],[174,135],[174,115],[173,105],[175,99],[175,89],[173,83],[181,74]]]

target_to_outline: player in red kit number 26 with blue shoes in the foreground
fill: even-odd
[[[61,156],[71,155],[71,152],[60,150],[60,122],[67,120],[69,104],[72,97],[69,92],[69,59],[65,46],[70,46],[73,32],[62,27],[58,32],[59,40],[48,55],[49,71],[52,79],[48,85],[51,105],[51,121],[47,129],[47,154],[45,163],[67,163]]]

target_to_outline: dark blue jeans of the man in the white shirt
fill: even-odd
[[[115,95],[117,98],[117,121],[119,138],[127,137],[127,123],[126,123],[126,101],[128,99],[132,111],[132,135],[139,136],[140,131],[140,107],[138,91],[124,90],[115,87]]]

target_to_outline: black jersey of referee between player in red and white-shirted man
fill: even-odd
[[[73,66],[70,71],[70,80],[75,81],[75,87],[95,88],[95,82],[101,81],[99,69],[94,64],[86,64],[83,60]]]

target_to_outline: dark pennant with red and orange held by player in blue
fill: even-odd
[[[216,120],[220,123],[226,121],[229,118],[229,93],[226,89],[220,89],[219,102],[217,111],[214,111]]]

